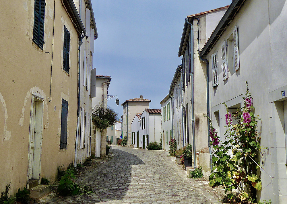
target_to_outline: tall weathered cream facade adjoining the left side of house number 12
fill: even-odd
[[[207,115],[207,83],[205,64],[198,55],[227,8],[228,6],[187,16],[189,23],[185,20],[178,54],[179,57],[182,56],[183,146],[193,146],[193,167],[198,165],[197,162],[194,163],[197,161],[195,153],[202,152],[200,166],[204,171],[210,171],[209,151],[203,151],[208,149],[208,125],[204,117]],[[190,29],[190,24],[193,30]]]

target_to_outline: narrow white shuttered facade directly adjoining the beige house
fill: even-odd
[[[82,39],[80,47],[80,87],[79,87],[79,122],[77,135],[77,148],[75,151],[75,165],[84,162],[91,156],[91,126],[92,126],[92,65],[94,52],[94,39],[96,36],[96,22],[94,20],[92,5],[88,0],[74,1],[80,18],[85,26],[86,37]],[[93,22],[91,24],[91,21]]]

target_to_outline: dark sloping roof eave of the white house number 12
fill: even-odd
[[[224,30],[228,27],[230,22],[234,19],[236,13],[238,13],[239,9],[243,5],[245,0],[233,0],[224,13],[223,17],[221,18],[220,22],[212,32],[210,38],[205,43],[205,46],[202,48],[201,52],[199,53],[199,57],[205,56],[208,52],[212,49],[212,47],[216,44]]]

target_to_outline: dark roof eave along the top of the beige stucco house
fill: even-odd
[[[79,13],[76,9],[76,6],[73,2],[73,0],[63,0],[63,6],[66,8],[67,12],[69,13],[69,16],[75,26],[75,29],[81,34],[82,32],[86,34],[85,27],[83,25],[83,22],[79,16]]]

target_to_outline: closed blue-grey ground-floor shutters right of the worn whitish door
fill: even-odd
[[[60,149],[67,148],[68,102],[62,99],[61,142]]]

